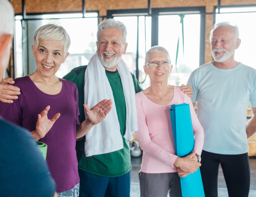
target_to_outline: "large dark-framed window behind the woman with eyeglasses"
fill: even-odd
[[[147,9],[107,12],[108,16],[123,22],[127,27],[128,48],[127,54],[123,56],[124,61],[134,75],[137,73],[138,80],[145,89],[150,86],[149,77],[145,80],[143,69],[146,51],[151,46],[163,46],[169,51],[173,65],[169,84],[187,84],[191,72],[204,64],[205,15],[200,13],[205,13],[205,7],[156,8],[152,9],[151,16],[147,16],[147,12]],[[184,16],[183,21],[181,14]]]

